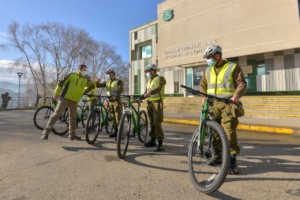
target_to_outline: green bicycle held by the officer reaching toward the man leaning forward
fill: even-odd
[[[85,130],[87,143],[94,144],[99,133],[102,131],[103,126],[105,126],[107,134],[111,134],[112,131],[114,131],[114,111],[109,107],[107,96],[92,94],[89,94],[88,96],[97,98],[97,104],[94,105],[88,116]],[[103,101],[102,98],[104,98]]]

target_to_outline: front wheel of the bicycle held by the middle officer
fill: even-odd
[[[119,158],[125,158],[130,139],[130,126],[131,113],[125,112],[122,115],[117,136],[117,154]]]

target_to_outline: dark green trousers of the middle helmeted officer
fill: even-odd
[[[164,133],[161,126],[164,118],[163,103],[161,101],[148,101],[147,112],[151,126],[150,137],[163,140]]]

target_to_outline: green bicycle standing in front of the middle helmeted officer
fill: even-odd
[[[131,98],[140,97],[137,95],[122,95],[127,98],[127,104],[123,109],[123,115],[120,120],[117,134],[117,155],[119,158],[125,158],[131,131],[131,123],[133,121],[133,137],[138,134],[141,143],[145,143],[148,136],[148,118],[146,111],[140,110],[140,101],[138,101],[137,109],[133,106]]]

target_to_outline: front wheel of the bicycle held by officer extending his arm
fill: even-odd
[[[101,119],[99,110],[92,110],[90,113],[86,127],[85,127],[85,138],[88,144],[94,144],[97,140],[98,134],[101,128]]]

